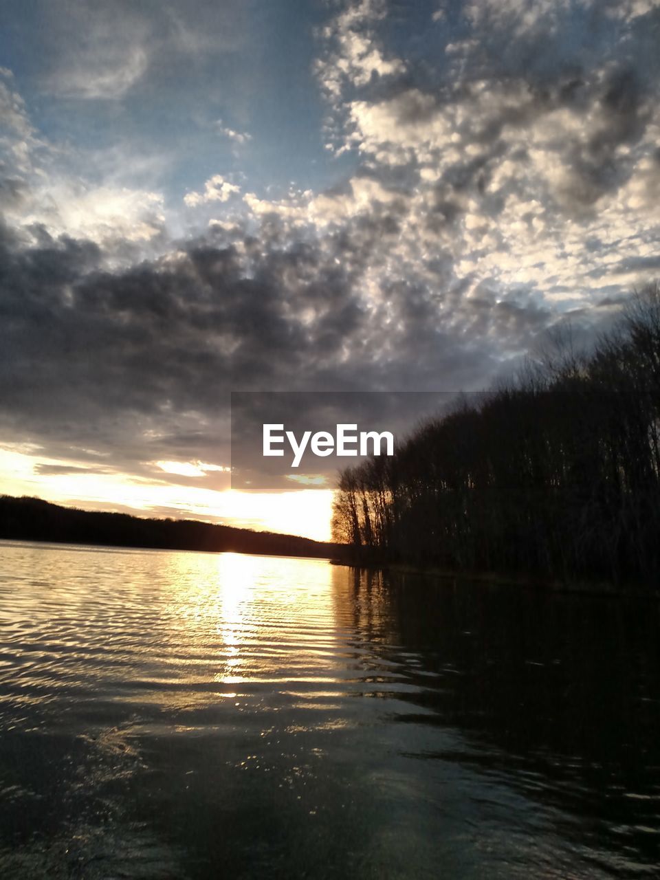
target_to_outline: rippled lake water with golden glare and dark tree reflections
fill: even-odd
[[[658,605],[0,543],[0,876],[658,876]]]

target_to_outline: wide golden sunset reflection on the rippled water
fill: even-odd
[[[224,716],[213,713],[228,703],[234,713],[301,709],[311,714],[287,721],[305,728],[308,721],[315,729],[350,724],[345,694],[362,693],[365,677],[382,668],[379,642],[395,642],[382,579],[326,561],[137,549],[12,552],[27,572],[38,565],[40,578],[11,597],[20,607],[15,626],[36,619],[48,629],[62,607],[89,622],[92,634],[105,633],[111,620],[135,685],[125,699],[172,712],[176,730],[194,730],[207,709],[205,726],[220,725]],[[58,643],[75,658],[89,647],[85,633],[70,627]]]

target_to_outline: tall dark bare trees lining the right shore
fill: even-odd
[[[342,471],[333,532],[356,561],[660,583],[658,283],[588,354],[565,327],[509,382]]]

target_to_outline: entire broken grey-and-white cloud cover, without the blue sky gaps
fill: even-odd
[[[14,143],[0,184],[4,439],[94,473],[111,457],[198,485],[153,462],[226,465],[231,391],[473,391],[567,314],[588,340],[621,302],[612,276],[660,267],[658,14],[631,10],[450,3],[422,43],[395,39],[386,15],[340,16],[319,77],[334,146],[356,157],[348,175],[323,194],[254,196],[252,210],[218,204],[209,231],[180,240],[151,214],[150,246],[130,238],[135,224],[110,240],[57,234],[43,211],[21,223],[38,181],[18,172]],[[172,4],[153,19],[133,10],[117,26],[139,19],[133,37],[94,66],[92,43],[116,37],[99,12],[51,87],[155,87],[154,47],[172,47],[177,70],[191,47],[206,51],[213,4],[197,11],[187,27]],[[55,36],[60,53],[70,37]],[[5,91],[14,130],[31,136]]]

